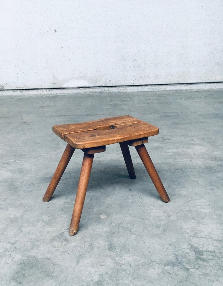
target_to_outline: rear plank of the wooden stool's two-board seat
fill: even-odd
[[[97,130],[97,128],[100,129],[100,127],[103,128],[103,126],[105,126],[104,130],[107,130],[108,128],[107,126],[112,126],[112,125],[120,126],[124,124],[136,123],[136,122],[142,122],[142,120],[134,118],[130,115],[123,115],[123,116],[103,118],[103,119],[98,119],[98,120],[91,120],[91,121],[81,122],[81,123],[55,125],[53,126],[53,132],[63,139],[65,134]]]

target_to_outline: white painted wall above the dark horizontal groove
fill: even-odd
[[[223,81],[222,0],[7,0],[3,89]]]

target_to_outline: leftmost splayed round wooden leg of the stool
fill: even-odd
[[[72,157],[74,151],[75,151],[75,148],[73,148],[70,144],[67,144],[67,146],[64,150],[64,153],[60,159],[60,162],[56,168],[56,171],[52,177],[52,180],[51,180],[51,182],[50,182],[50,184],[46,190],[46,193],[44,194],[44,197],[43,197],[44,202],[48,202],[51,199],[51,197],[52,197],[52,195],[56,189],[56,186],[58,185],[58,183],[59,183],[59,181],[60,181],[60,179],[61,179],[61,177],[62,177],[62,175],[66,169],[66,166],[68,165],[69,161],[71,160],[71,157]]]

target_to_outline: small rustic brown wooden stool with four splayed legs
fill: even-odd
[[[68,144],[43,197],[44,202],[48,202],[52,197],[75,148],[81,149],[84,152],[69,229],[70,235],[75,235],[78,231],[94,154],[104,152],[105,145],[114,143],[120,144],[130,179],[135,179],[136,175],[128,145],[135,146],[161,199],[164,202],[170,202],[169,196],[144,146],[144,143],[148,142],[148,136],[157,135],[159,133],[158,127],[132,116],[124,115],[77,124],[56,125],[53,126],[53,132]]]

